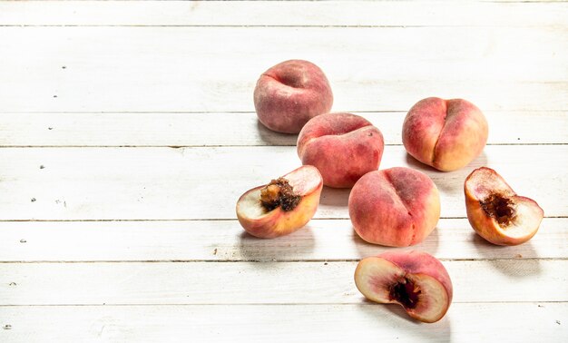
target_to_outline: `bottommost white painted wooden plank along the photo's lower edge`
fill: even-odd
[[[564,342],[563,303],[453,304],[434,324],[394,305],[3,307],[4,342]]]

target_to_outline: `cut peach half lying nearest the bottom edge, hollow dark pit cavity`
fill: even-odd
[[[444,265],[416,250],[360,260],[355,285],[365,298],[398,304],[410,317],[426,323],[442,319],[452,303],[452,281]]]

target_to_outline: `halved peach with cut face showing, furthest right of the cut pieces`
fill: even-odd
[[[544,211],[518,196],[503,177],[481,167],[465,179],[465,210],[475,232],[497,245],[517,245],[533,238]]]

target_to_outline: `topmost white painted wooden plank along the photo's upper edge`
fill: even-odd
[[[479,2],[38,1],[0,3],[0,25],[565,26],[568,5]]]

